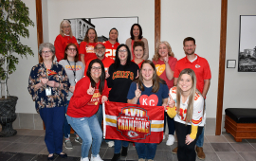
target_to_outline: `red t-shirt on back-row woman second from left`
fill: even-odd
[[[84,54],[84,62],[85,62],[85,64],[89,60],[97,59],[97,56],[94,53],[94,45],[95,44],[96,43],[87,43],[87,42],[82,42],[80,44],[79,53],[80,54]]]

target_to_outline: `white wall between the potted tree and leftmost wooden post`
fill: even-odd
[[[17,96],[16,113],[36,113],[35,104],[32,101],[28,91],[28,76],[33,65],[38,63],[38,47],[37,47],[37,27],[36,27],[36,7],[35,1],[23,0],[27,8],[29,8],[29,18],[34,22],[35,27],[28,27],[29,38],[21,38],[23,45],[28,45],[33,50],[35,56],[28,56],[27,59],[21,59],[19,56],[19,64],[17,70],[9,76],[9,95]]]

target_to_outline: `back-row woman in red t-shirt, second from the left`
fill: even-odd
[[[97,42],[98,36],[96,30],[92,27],[88,28],[79,48],[79,54],[81,56],[83,66],[86,66],[88,61],[97,59],[97,56],[94,53],[94,46]]]

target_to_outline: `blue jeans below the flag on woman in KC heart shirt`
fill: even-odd
[[[135,143],[138,159],[152,159],[155,158],[155,152],[157,148],[156,143]]]

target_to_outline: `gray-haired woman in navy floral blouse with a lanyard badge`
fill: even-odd
[[[33,66],[28,79],[28,92],[35,101],[36,111],[46,126],[46,147],[48,160],[54,160],[53,153],[67,157],[63,152],[64,108],[70,83],[62,65],[53,63],[54,45],[39,46],[42,63]]]

